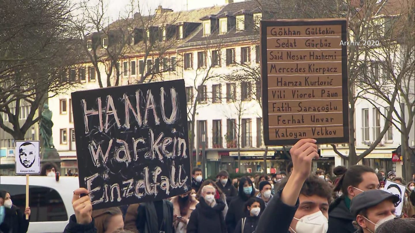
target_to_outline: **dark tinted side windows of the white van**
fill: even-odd
[[[1,189],[10,193],[13,204],[24,211],[26,186],[2,184]],[[31,222],[67,221],[68,213],[61,195],[52,188],[29,185],[29,206]]]

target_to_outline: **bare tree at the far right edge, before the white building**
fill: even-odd
[[[386,119],[388,126],[401,133],[401,154],[405,165],[405,178],[412,177],[410,157],[413,152],[409,145],[409,133],[414,124],[415,116],[415,1],[408,1],[409,7],[386,11],[390,17],[382,17],[377,23],[385,27],[377,29],[372,25],[371,33],[377,38],[376,49],[367,51],[365,56],[371,61],[361,80],[361,89],[367,95],[361,96],[374,107],[381,105],[388,111],[378,113]],[[398,92],[394,98],[394,91]],[[395,106],[399,104],[399,106]],[[406,118],[407,117],[407,118]],[[406,118],[406,119],[405,119]]]

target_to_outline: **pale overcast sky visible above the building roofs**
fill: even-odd
[[[234,0],[234,2],[242,1],[244,0]],[[73,0],[73,2],[81,2],[81,0]],[[98,0],[88,0],[88,4],[91,6],[96,5],[97,2]],[[108,16],[115,20],[118,19],[119,12],[125,12],[131,0],[104,0],[104,2],[108,5]],[[139,2],[144,13],[149,12],[149,9],[156,9],[160,4],[163,8],[170,8],[174,11],[186,10],[186,5],[189,10],[213,5],[225,5],[225,0],[139,0]]]

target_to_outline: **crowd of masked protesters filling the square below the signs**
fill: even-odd
[[[216,180],[192,171],[192,189],[171,199],[93,210],[88,191],[73,192],[75,214],[64,233],[414,233],[415,174],[401,199],[383,191],[385,180],[405,184],[394,172],[375,172],[364,165],[335,167],[311,174],[319,157],[314,139],[301,139],[290,153],[287,171],[272,175]],[[45,174],[55,172],[46,167]],[[53,173],[52,173],[53,174]],[[52,176],[52,175],[51,175]],[[0,232],[27,232],[30,208],[12,205],[0,192]],[[396,216],[400,216],[397,218]]]

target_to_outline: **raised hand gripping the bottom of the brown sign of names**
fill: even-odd
[[[295,173],[303,180],[310,175],[312,159],[319,157],[316,142],[311,138],[300,139],[290,150],[293,160],[293,174]]]

